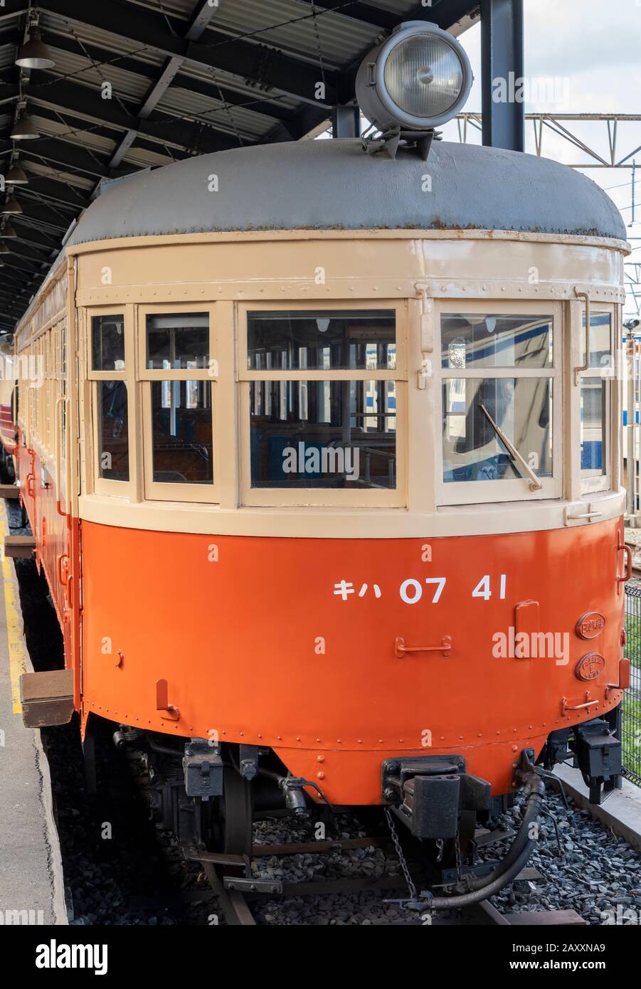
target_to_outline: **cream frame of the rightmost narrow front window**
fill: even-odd
[[[581,306],[581,316],[579,319],[579,328],[581,339],[578,343],[578,352],[580,366],[586,360],[585,356],[585,326],[583,325],[583,320],[586,315],[585,306]],[[591,319],[595,315],[609,315],[609,338],[610,338],[610,355],[611,360],[609,367],[595,367],[588,368],[586,371],[582,371],[579,374],[579,383],[577,387],[578,396],[578,412],[577,412],[577,435],[573,437],[574,442],[577,444],[578,458],[579,458],[579,482],[581,486],[582,497],[587,497],[591,494],[596,494],[598,492],[608,492],[612,489],[612,466],[613,466],[613,451],[616,449],[616,436],[613,433],[615,428],[616,417],[613,414],[613,405],[616,400],[616,388],[614,387],[616,379],[616,351],[618,347],[615,346],[614,334],[616,333],[617,318],[616,312],[613,306],[600,304],[593,301],[591,306]],[[605,464],[605,471],[603,474],[595,478],[584,478],[581,473],[581,386],[585,378],[600,378],[605,382],[605,398],[603,400],[603,407],[605,412],[605,421],[603,423],[603,436],[604,436],[604,449],[602,452],[602,460]]]

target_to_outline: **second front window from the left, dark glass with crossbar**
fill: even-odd
[[[213,320],[209,310],[143,310],[145,496],[215,501]]]

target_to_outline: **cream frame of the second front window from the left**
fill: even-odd
[[[154,303],[137,306],[137,379],[142,400],[142,476],[144,498],[149,501],[185,501],[218,505],[221,502],[223,457],[223,426],[218,409],[218,325],[217,306],[212,302]],[[146,367],[147,315],[180,315],[207,313],[209,316],[209,367],[180,369],[151,369]],[[228,369],[228,373],[231,370]],[[208,381],[211,387],[212,452],[214,481],[212,484],[175,484],[153,480],[153,423],[151,421],[151,383],[154,381]]]

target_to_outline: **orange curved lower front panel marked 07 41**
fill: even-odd
[[[379,799],[381,762],[400,753],[461,753],[505,792],[515,752],[621,696],[605,699],[622,655],[620,520],[429,539],[430,552],[81,524],[85,713],[272,746],[334,803]],[[539,628],[523,643],[527,600]],[[575,626],[592,610],[605,668],[586,684]],[[445,636],[448,653],[423,651]],[[158,679],[173,710],[156,710]],[[587,686],[597,704],[563,717],[562,698],[581,703]]]

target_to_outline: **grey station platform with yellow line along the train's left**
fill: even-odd
[[[0,547],[8,533],[0,501]],[[66,924],[48,763],[40,732],[22,721],[20,675],[33,668],[18,582],[12,560],[0,565],[0,925]]]

